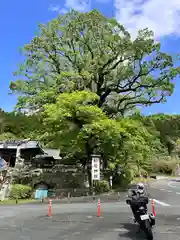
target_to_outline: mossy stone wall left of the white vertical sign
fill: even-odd
[[[53,189],[85,188],[87,175],[75,166],[60,165],[59,168],[23,168],[12,169],[14,183],[30,184],[34,187],[40,182],[45,182]]]

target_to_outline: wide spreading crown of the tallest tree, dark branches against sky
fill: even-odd
[[[70,11],[39,26],[23,47],[25,62],[11,83],[20,93],[17,108],[41,110],[65,91],[90,90],[109,116],[124,115],[137,105],[164,102],[179,74],[171,56],[148,29],[135,40],[115,19],[93,10]]]

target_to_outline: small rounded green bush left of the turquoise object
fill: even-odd
[[[11,189],[11,199],[29,199],[32,195],[32,188],[27,185],[14,184]]]

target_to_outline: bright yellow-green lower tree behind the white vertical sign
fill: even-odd
[[[42,138],[61,146],[66,163],[80,162],[90,184],[89,163],[94,149],[101,154],[106,169],[114,171],[121,166],[126,172],[137,166],[136,173],[148,170],[154,152],[153,136],[136,120],[109,119],[96,105],[97,100],[99,96],[88,91],[60,94],[56,103],[44,106],[47,132]]]

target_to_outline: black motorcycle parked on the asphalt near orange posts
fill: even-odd
[[[135,222],[137,222],[140,229],[144,231],[147,239],[153,240],[152,227],[155,225],[155,217],[152,213],[148,213],[148,198],[141,197],[138,200],[127,199],[126,203],[132,205],[133,201],[136,201]]]

